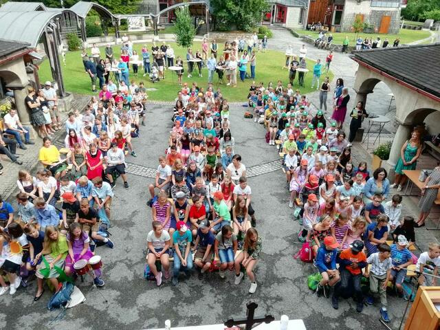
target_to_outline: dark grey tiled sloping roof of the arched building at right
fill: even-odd
[[[353,52],[351,57],[440,97],[440,71],[435,67],[440,63],[440,43],[363,50]]]

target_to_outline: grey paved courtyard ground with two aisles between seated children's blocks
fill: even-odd
[[[291,40],[295,48],[301,44],[289,32],[276,30],[274,35],[271,47],[282,40]],[[310,58],[324,58],[325,52],[308,47]],[[336,54],[332,65],[336,76],[342,76],[346,85],[351,86],[355,63],[345,55]],[[382,85],[377,85],[374,101],[370,103],[369,100],[369,104],[373,108],[376,102],[375,111],[386,114],[387,90]],[[316,96],[312,96],[312,100],[316,104]],[[142,127],[140,137],[134,139],[138,157],[127,159],[130,188],[124,190],[120,181],[115,187],[110,229],[115,248],[96,250],[103,259],[106,285],[96,292],[89,278],[85,278],[85,283],[79,282],[87,298],[85,303],[67,310],[63,319],[52,322],[58,311],[47,311],[45,304],[50,293],[46,290],[41,300],[34,303],[36,283],[32,282],[29,287],[20,288],[13,297],[0,297],[1,329],[143,329],[163,327],[166,319],[171,320],[172,326],[206,325],[244,316],[245,305],[250,300],[259,304],[257,315],[272,314],[279,319],[287,314],[291,319],[303,319],[310,330],[385,329],[379,322],[379,307],[365,307],[358,314],[352,300],[341,300],[340,309],[336,311],[330,300],[317,298],[307,288],[307,276],[316,270],[312,265],[293,259],[300,248],[296,239],[300,226],[292,220],[292,210],[287,206],[285,175],[278,153],[274,146],[265,143],[263,127],[243,118],[244,111],[241,105],[232,105],[231,131],[236,142],[235,151],[241,154],[243,164],[249,168],[252,205],[263,239],[263,254],[256,268],[259,287],[255,294],[248,294],[250,283],[246,278],[241,285],[235,286],[233,274],[228,274],[224,280],[217,273],[207,274],[203,280],[197,275],[188,280],[181,278],[177,287],[170,281],[156,287],[154,282],[144,280],[146,234],[151,229],[151,208],[146,206],[147,186],[153,182],[153,168],[157,167],[157,157],[164,153],[171,128],[170,106],[155,104],[148,107],[147,126]],[[391,127],[389,129],[392,133]],[[353,157],[358,162],[371,156],[360,144],[355,144]],[[36,159],[26,164],[30,166],[32,162]],[[7,181],[0,178],[3,179]],[[3,189],[3,184],[1,186]],[[417,212],[409,203],[404,210],[412,214]],[[423,234],[425,232],[423,230]],[[399,327],[405,304],[404,300],[389,298],[392,329]]]

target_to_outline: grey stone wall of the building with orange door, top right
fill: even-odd
[[[364,14],[364,22],[374,25],[375,29],[380,28],[382,16],[391,16],[391,23],[388,33],[397,34],[400,28],[400,8],[371,7],[370,0],[346,0],[344,13],[342,14],[341,32],[350,32],[355,21],[356,14]]]

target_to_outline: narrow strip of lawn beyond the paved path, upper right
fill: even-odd
[[[295,30],[296,33],[303,35],[303,36],[313,36],[315,39],[318,38],[318,32],[309,31],[309,30]],[[388,38],[388,41],[393,45],[393,41],[399,37],[400,38],[400,44],[404,43],[412,43],[412,41],[417,41],[421,39],[428,38],[430,36],[430,32],[428,31],[416,31],[416,30],[407,30],[407,29],[401,29],[399,34],[365,34],[360,33],[359,34],[362,39],[364,37],[368,36],[369,38],[375,39],[377,36],[380,36],[381,40],[384,40],[385,38]],[[333,33],[333,43],[336,43],[338,45],[342,45],[342,41],[344,41],[345,36],[349,36],[350,41],[355,41],[356,34],[352,32],[335,32]]]

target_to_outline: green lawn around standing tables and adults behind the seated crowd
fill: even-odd
[[[181,47],[177,47],[172,43],[175,50],[176,57],[181,56],[181,58],[186,59],[186,50]],[[140,54],[142,44],[135,44],[134,49]],[[151,48],[151,44],[148,44],[148,48]],[[195,43],[192,47],[193,50],[201,49],[201,43]],[[113,51],[115,54],[118,52],[119,47],[115,47]],[[104,54],[104,48],[101,48],[101,54]],[[322,58],[322,61],[324,58]],[[257,54],[256,58],[256,82],[263,82],[265,86],[272,81],[276,85],[277,80],[282,80],[283,85],[287,85],[289,73],[287,69],[282,69],[282,63],[285,61],[285,55],[281,52],[267,51],[266,53]],[[186,62],[186,61],[184,61]],[[80,52],[67,52],[66,54],[67,66],[63,65],[63,77],[65,82],[66,91],[77,93],[77,94],[91,94],[91,83],[90,78],[85,74],[83,61],[81,60]],[[307,68],[312,69],[314,63],[312,61],[307,61]],[[197,85],[201,87],[206,87],[208,82],[208,70],[203,68],[202,75],[203,78],[199,78],[198,74],[193,74],[192,78],[187,78],[187,67],[185,64],[185,73],[183,77],[183,82],[192,83],[196,82]],[[195,72],[194,72],[195,73]],[[250,74],[250,67],[248,66],[248,73]],[[39,76],[41,81],[53,80],[52,74],[50,72],[49,62],[46,60],[41,64],[39,70]],[[135,78],[133,72],[130,72],[129,80],[134,80],[139,83],[143,81],[147,88],[157,88],[156,91],[148,91],[149,100],[163,100],[171,101],[175,99],[179,85],[177,85],[177,76],[173,72],[165,72],[165,79],[161,80],[159,83],[151,83],[148,76]],[[311,85],[311,72],[307,73],[305,76],[305,88],[301,88],[301,94],[307,94],[311,91],[309,86]],[[323,76],[322,76],[323,78]],[[329,72],[329,78],[333,79],[333,73]],[[225,85],[220,85],[221,91],[225,98],[231,101],[243,101],[248,95],[249,86],[251,84],[250,79],[246,79],[244,83],[241,83],[239,77],[237,77],[238,83],[236,88],[226,87]],[[296,77],[294,88],[298,87],[298,76]],[[214,86],[217,87],[217,74],[214,78]]]

